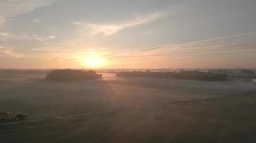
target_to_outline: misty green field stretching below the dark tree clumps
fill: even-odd
[[[256,83],[119,78],[46,82],[1,74],[0,142],[256,142]]]

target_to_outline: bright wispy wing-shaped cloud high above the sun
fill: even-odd
[[[142,24],[147,24],[153,21],[157,21],[169,16],[167,11],[161,11],[153,14],[149,14],[147,16],[139,16],[136,19],[132,19],[129,21],[122,21],[118,24],[88,24],[80,21],[73,21],[73,24],[78,26],[85,26],[86,28],[91,30],[91,34],[104,34],[104,36],[110,36],[111,34],[115,34],[118,31],[123,29],[127,29],[132,26],[139,26]]]

